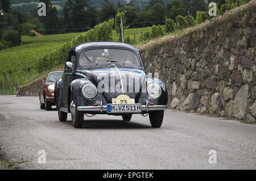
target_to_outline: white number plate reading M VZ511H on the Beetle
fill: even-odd
[[[141,104],[107,104],[107,112],[141,112]]]

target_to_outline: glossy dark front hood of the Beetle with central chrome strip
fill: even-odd
[[[77,72],[92,79],[92,82],[97,86],[98,91],[104,94],[108,103],[112,103],[112,98],[117,98],[120,94],[128,95],[131,99],[135,99],[135,102],[138,102],[139,95],[144,85],[146,85],[144,69],[118,64],[115,64],[115,66],[105,65],[103,67],[102,65],[95,65],[89,68],[86,67],[86,69],[79,69]]]

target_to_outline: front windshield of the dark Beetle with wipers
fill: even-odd
[[[139,65],[137,55],[126,49],[92,49],[82,53],[79,64],[86,66],[90,64],[127,64]]]

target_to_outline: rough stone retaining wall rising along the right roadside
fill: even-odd
[[[166,82],[170,108],[255,121],[255,2],[138,47]]]

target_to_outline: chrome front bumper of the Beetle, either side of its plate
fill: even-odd
[[[146,100],[146,105],[142,105],[141,109],[143,112],[148,112],[148,111],[159,111],[159,110],[166,110],[167,106],[164,105],[154,105],[154,106],[150,106],[149,101]],[[72,103],[71,103],[72,105]],[[73,107],[73,106],[71,106]],[[101,105],[99,106],[78,106],[77,107],[77,111],[88,111],[88,112],[106,112],[107,111],[107,106],[102,106],[102,102]]]

